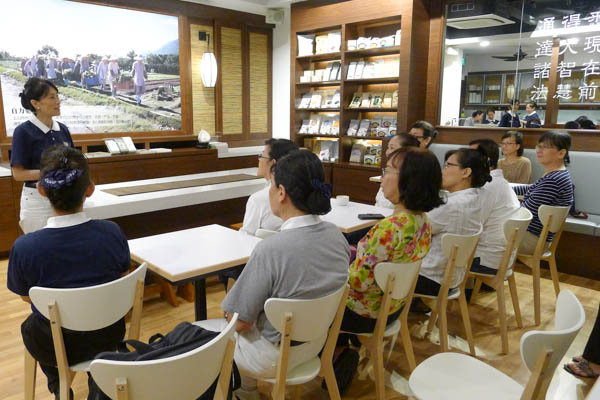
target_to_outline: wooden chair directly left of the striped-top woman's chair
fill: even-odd
[[[498,300],[498,320],[500,324],[500,336],[502,338],[502,354],[508,354],[508,332],[506,326],[506,303],[504,301],[504,281],[508,281],[510,296],[512,298],[513,308],[515,310],[515,318],[517,326],[523,327],[521,319],[521,310],[519,309],[519,297],[517,295],[517,284],[515,275],[511,266],[514,263],[517,249],[521,245],[521,241],[527,232],[527,227],[531,222],[531,212],[526,208],[520,208],[515,217],[504,223],[504,236],[506,237],[506,250],[498,266],[496,275],[484,274],[479,272],[467,272],[467,278],[475,278],[475,288],[471,295],[471,304],[475,301],[481,284],[485,283],[491,286],[496,291]]]

